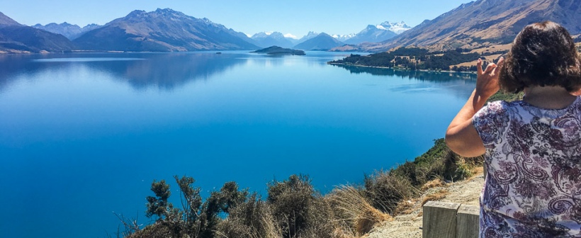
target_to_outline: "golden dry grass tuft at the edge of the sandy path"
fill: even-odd
[[[348,230],[363,235],[380,222],[391,221],[393,217],[373,206],[353,186],[339,186],[329,197],[337,208],[339,219],[346,222]]]

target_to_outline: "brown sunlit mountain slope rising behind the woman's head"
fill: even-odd
[[[580,34],[581,1],[472,1],[395,38],[361,49],[384,51],[413,45],[429,50],[451,50],[501,45],[512,42],[524,26],[541,21],[555,21],[573,35]]]

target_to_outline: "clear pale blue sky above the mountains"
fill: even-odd
[[[405,21],[416,26],[470,0],[0,0],[0,11],[19,23],[103,25],[133,10],[172,8],[208,18],[247,34],[279,31],[301,37],[309,31],[358,33],[369,24]]]

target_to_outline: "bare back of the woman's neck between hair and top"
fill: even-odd
[[[524,89],[523,101],[538,108],[562,109],[571,105],[575,98],[562,86],[531,86]]]

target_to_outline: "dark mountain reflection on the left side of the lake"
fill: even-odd
[[[157,86],[171,90],[190,81],[208,79],[246,61],[244,55],[213,52],[5,55],[0,56],[0,92],[11,80],[78,66],[113,74],[113,79],[125,81],[134,89]],[[15,77],[19,74],[23,77]]]

